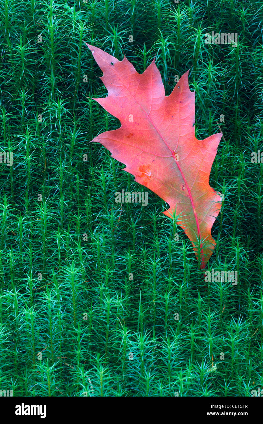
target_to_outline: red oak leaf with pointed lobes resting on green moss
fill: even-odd
[[[86,43],[87,44],[87,43]],[[195,92],[187,71],[166,96],[154,61],[139,74],[124,57],[118,61],[87,44],[101,68],[105,98],[94,99],[121,121],[121,127],[93,139],[126,165],[135,181],[155,192],[192,242],[200,268],[216,245],[211,228],[222,199],[209,185],[211,166],[222,133],[204,140],[195,137]]]

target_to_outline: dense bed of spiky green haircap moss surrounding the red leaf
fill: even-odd
[[[0,147],[13,152],[0,163],[0,390],[251,396],[263,385],[263,164],[251,162],[263,152],[263,4],[0,0],[0,19]],[[211,31],[238,45],[205,44]],[[204,282],[153,193],[147,207],[115,203],[142,187],[88,144],[119,122],[92,99],[107,92],[85,42],[140,73],[155,56],[167,94],[191,68],[196,135],[224,134],[209,269],[237,271],[237,285]]]

